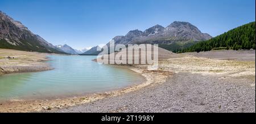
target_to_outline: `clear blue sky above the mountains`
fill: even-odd
[[[255,21],[255,0],[0,0],[0,10],[53,45],[75,49],[174,21],[212,36]]]

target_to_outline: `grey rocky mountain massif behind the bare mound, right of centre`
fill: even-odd
[[[195,25],[188,22],[174,22],[164,28],[161,25],[146,29],[129,31],[125,36],[113,38],[117,44],[158,44],[167,50],[176,50],[196,44],[197,41],[211,39],[208,33],[202,33]],[[107,44],[109,46],[109,43]]]

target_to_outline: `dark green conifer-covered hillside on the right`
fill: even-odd
[[[208,41],[201,41],[175,53],[205,52],[219,49],[255,49],[255,22],[242,25]]]

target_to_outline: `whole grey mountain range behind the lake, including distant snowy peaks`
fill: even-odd
[[[202,33],[191,23],[174,22],[166,28],[161,25],[155,25],[145,31],[139,31],[138,29],[129,31],[125,36],[116,36],[113,40],[115,45],[158,44],[164,49],[174,51],[211,38],[212,36],[208,33]],[[106,45],[109,46],[109,43]],[[15,21],[0,11],[0,48],[45,53],[96,55],[100,53],[97,52],[98,47],[76,50],[67,44],[54,46],[39,35],[32,33],[22,23]]]

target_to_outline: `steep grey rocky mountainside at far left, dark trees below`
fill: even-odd
[[[0,11],[0,48],[33,52],[64,53],[32,33],[22,23]]]

